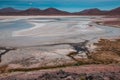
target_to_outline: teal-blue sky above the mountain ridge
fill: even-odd
[[[113,9],[120,7],[120,0],[0,0],[0,8],[4,7],[17,9],[27,9],[30,7],[45,9],[54,7],[76,12],[89,8]]]

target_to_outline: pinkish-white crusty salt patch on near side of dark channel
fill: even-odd
[[[72,61],[66,56],[73,49],[57,49],[41,51],[41,48],[27,48],[10,51],[2,56],[1,65],[8,64],[10,68],[33,68],[65,64]],[[19,56],[18,56],[19,55]]]

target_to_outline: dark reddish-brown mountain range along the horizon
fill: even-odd
[[[0,9],[0,15],[120,15],[120,7],[104,11],[97,8],[86,9],[80,12],[70,13],[58,10],[56,8],[48,8],[40,10],[38,8],[29,8],[27,10],[17,10],[11,7]]]

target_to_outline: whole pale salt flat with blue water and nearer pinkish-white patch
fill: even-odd
[[[92,43],[100,38],[120,36],[120,28],[94,23],[95,20],[101,20],[101,16],[4,16],[0,18],[2,18],[0,46],[17,48],[2,56],[0,65],[9,64],[10,68],[66,64],[73,61],[66,55],[74,49],[62,43],[89,40],[87,47],[92,51],[96,47]],[[60,45],[51,46],[52,44]],[[86,58],[84,53],[75,57],[81,58],[81,56]]]

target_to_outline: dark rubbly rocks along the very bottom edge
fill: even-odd
[[[17,77],[9,77],[0,80],[120,80],[120,72],[77,74],[60,70],[58,72],[45,73],[33,79],[20,79]]]

